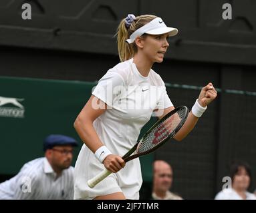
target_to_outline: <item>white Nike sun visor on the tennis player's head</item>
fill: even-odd
[[[132,35],[130,35],[130,39],[127,39],[126,41],[130,43],[134,43],[136,37],[143,35],[144,33],[149,35],[161,35],[164,33],[169,33],[170,36],[174,36],[178,33],[178,29],[173,27],[167,27],[164,24],[164,21],[160,17],[153,19],[146,25],[140,27]]]

